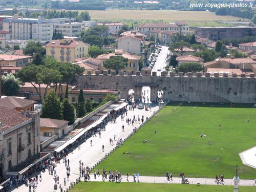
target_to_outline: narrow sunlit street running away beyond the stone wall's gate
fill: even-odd
[[[161,76],[161,71],[166,67],[166,56],[170,53],[168,50],[169,47],[167,46],[162,46],[162,50],[160,51],[156,63],[152,69],[152,72],[157,72],[157,76]],[[158,71],[160,70],[160,71]]]

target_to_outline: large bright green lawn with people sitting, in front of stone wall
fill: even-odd
[[[171,103],[146,123],[96,169],[117,169],[123,175],[254,179],[256,169],[242,164],[239,153],[255,145],[256,109],[249,105],[176,106]],[[194,106],[197,105],[197,108]],[[245,123],[249,119],[249,123]],[[219,124],[221,123],[221,130]],[[157,134],[154,131],[157,130]],[[200,138],[200,134],[206,138]],[[211,139],[211,145],[208,139]],[[143,140],[147,139],[147,143]],[[222,150],[223,148],[223,150]],[[123,152],[130,151],[130,155]]]

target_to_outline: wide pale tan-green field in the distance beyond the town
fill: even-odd
[[[81,10],[82,11],[82,10]],[[120,21],[127,25],[146,22],[175,22],[186,20],[190,27],[215,27],[232,26],[233,24],[221,24],[219,20],[243,20],[240,17],[215,15],[206,11],[174,11],[174,10],[89,10],[92,20]],[[246,19],[245,19],[246,20]]]

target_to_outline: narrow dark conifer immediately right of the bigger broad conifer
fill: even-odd
[[[66,121],[69,121],[69,124],[72,124],[75,122],[75,108],[71,104],[68,98],[65,98],[62,102],[62,114],[63,119]]]

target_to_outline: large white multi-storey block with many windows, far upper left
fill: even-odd
[[[3,30],[11,33],[10,39],[49,41],[53,35],[53,23],[43,16],[23,18],[13,15],[3,20]]]

